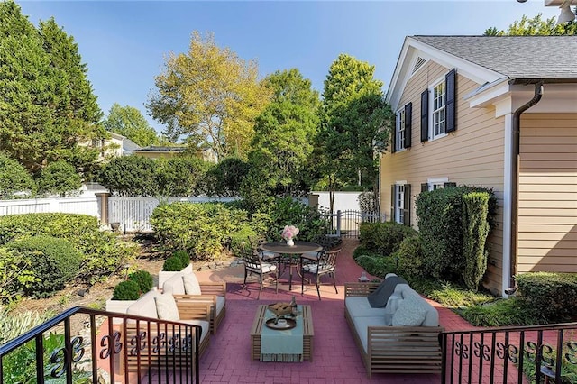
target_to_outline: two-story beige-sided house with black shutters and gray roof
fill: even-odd
[[[577,37],[408,36],[387,101],[397,123],[380,206],[392,220],[417,228],[421,190],[490,187],[487,288],[577,272]]]

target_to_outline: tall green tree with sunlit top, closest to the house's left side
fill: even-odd
[[[336,187],[344,184],[374,187],[377,181],[375,151],[384,151],[392,113],[384,101],[382,82],[373,78],[374,70],[341,54],[325,79],[317,156],[333,196]]]

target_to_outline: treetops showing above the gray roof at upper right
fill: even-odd
[[[483,34],[485,36],[574,35],[577,34],[577,22],[557,25],[554,17],[543,20],[542,14],[537,14],[534,18],[529,19],[524,14],[521,20],[510,24],[506,31],[499,31],[497,28],[491,27],[486,29]]]

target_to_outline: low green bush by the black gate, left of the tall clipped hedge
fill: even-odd
[[[403,239],[417,235],[413,228],[395,222],[362,223],[360,228],[361,246],[384,255],[398,251]]]

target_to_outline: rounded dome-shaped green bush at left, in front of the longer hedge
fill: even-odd
[[[33,297],[50,296],[64,288],[64,284],[78,275],[83,259],[82,253],[70,242],[46,235],[23,238],[7,247],[30,261],[30,269],[38,279],[24,287],[24,292]]]

